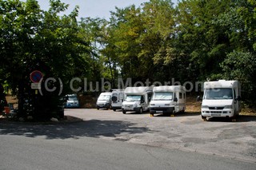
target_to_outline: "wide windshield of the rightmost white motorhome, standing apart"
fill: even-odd
[[[206,89],[203,97],[206,100],[233,99],[232,89]]]

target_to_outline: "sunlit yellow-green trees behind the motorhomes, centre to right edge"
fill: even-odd
[[[243,70],[238,65],[223,69],[233,51],[254,58],[255,23],[255,2],[250,0],[183,0],[175,8],[171,1],[151,0],[112,12],[106,48],[122,77],[135,81],[223,79]],[[226,78],[237,78],[247,90],[249,81]]]

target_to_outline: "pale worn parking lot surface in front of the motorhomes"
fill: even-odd
[[[256,117],[241,116],[202,121],[200,113],[127,113],[97,109],[66,109],[65,115],[82,118],[90,136],[154,147],[177,148],[256,163]]]

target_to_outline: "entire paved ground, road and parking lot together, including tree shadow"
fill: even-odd
[[[84,121],[48,125],[0,122],[0,169],[256,168],[252,117],[203,122],[196,114],[149,117],[94,109],[66,109],[66,115]],[[214,141],[206,140],[208,137]]]

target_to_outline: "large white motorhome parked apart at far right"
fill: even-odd
[[[206,81],[202,98],[202,119],[234,117],[241,112],[241,88],[238,81]]]

